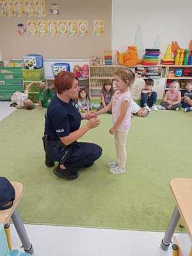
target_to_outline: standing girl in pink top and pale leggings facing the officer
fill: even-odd
[[[109,129],[114,134],[117,162],[108,163],[109,172],[120,174],[126,172],[127,168],[127,135],[131,127],[131,93],[130,88],[134,83],[135,75],[131,70],[118,69],[115,72],[116,92],[108,106],[95,112],[96,115],[108,112],[112,108],[113,126]]]

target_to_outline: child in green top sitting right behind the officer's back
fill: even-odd
[[[51,89],[54,87],[54,84],[47,86],[45,82],[39,83],[40,92],[38,93],[38,106],[40,109],[48,108],[49,104],[54,97]]]

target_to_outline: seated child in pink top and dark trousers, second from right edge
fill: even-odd
[[[163,102],[159,109],[172,109],[175,111],[179,111],[181,107],[181,93],[179,91],[179,82],[173,81],[170,84],[170,90],[166,91]]]

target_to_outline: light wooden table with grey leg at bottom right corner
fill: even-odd
[[[175,209],[172,214],[168,228],[164,234],[161,241],[161,248],[163,250],[168,250],[170,243],[172,242],[173,233],[177,227],[180,217],[182,218],[182,225],[186,227],[189,233],[189,237],[192,242],[192,179],[191,178],[175,178],[170,181],[170,187],[172,189],[173,195],[175,196]],[[175,240],[177,242],[177,239]],[[174,242],[175,242],[174,241]],[[179,252],[180,244],[179,245]],[[180,255],[180,253],[178,254]],[[192,248],[189,252],[189,256],[192,256]]]

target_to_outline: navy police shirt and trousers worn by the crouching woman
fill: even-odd
[[[61,143],[60,138],[77,131],[81,125],[81,114],[74,102],[60,100],[57,95],[47,109],[44,131],[45,154],[52,161],[65,164],[70,172],[77,172],[79,168],[92,166],[102,154],[102,148],[94,143],[73,142],[68,146]]]

